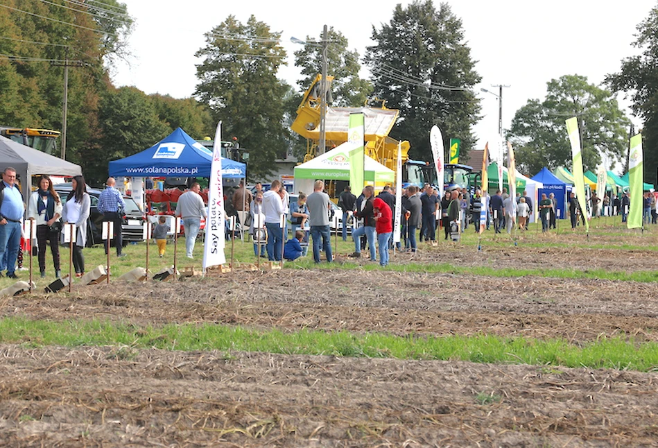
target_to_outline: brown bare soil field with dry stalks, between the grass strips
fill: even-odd
[[[441,245],[393,261],[633,271],[655,255]],[[136,327],[658,341],[658,282],[284,269],[1,304],[3,317]],[[658,446],[656,372],[133,347],[0,345],[0,359],[5,446]]]

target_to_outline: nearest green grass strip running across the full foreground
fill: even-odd
[[[71,320],[51,322],[4,318],[0,342],[31,347],[121,345],[164,350],[225,350],[281,354],[333,355],[415,360],[472,361],[561,365],[569,368],[614,368],[649,372],[658,370],[658,344],[634,343],[632,338],[599,338],[583,345],[562,339],[539,340],[476,336],[395,336],[353,334],[348,331],[293,333],[271,329],[258,331],[227,325],[134,325]]]

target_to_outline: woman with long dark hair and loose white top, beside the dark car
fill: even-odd
[[[81,175],[73,177],[71,193],[67,198],[62,213],[62,221],[76,225],[76,243],[73,245],[73,268],[76,269],[76,277],[82,277],[85,273],[85,256],[83,248],[87,243],[87,220],[92,201],[87,193],[85,178]]]

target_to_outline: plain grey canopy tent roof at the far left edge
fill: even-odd
[[[33,175],[74,176],[83,173],[79,165],[2,136],[0,136],[0,164],[3,170],[8,166],[16,169],[24,198],[28,198],[32,191]]]

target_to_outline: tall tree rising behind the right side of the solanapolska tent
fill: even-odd
[[[223,122],[223,135],[238,137],[250,151],[250,176],[266,176],[288,150],[283,117],[289,87],[277,79],[286,56],[280,33],[254,16],[246,24],[229,16],[205,37],[196,53],[203,61],[195,94]]]

